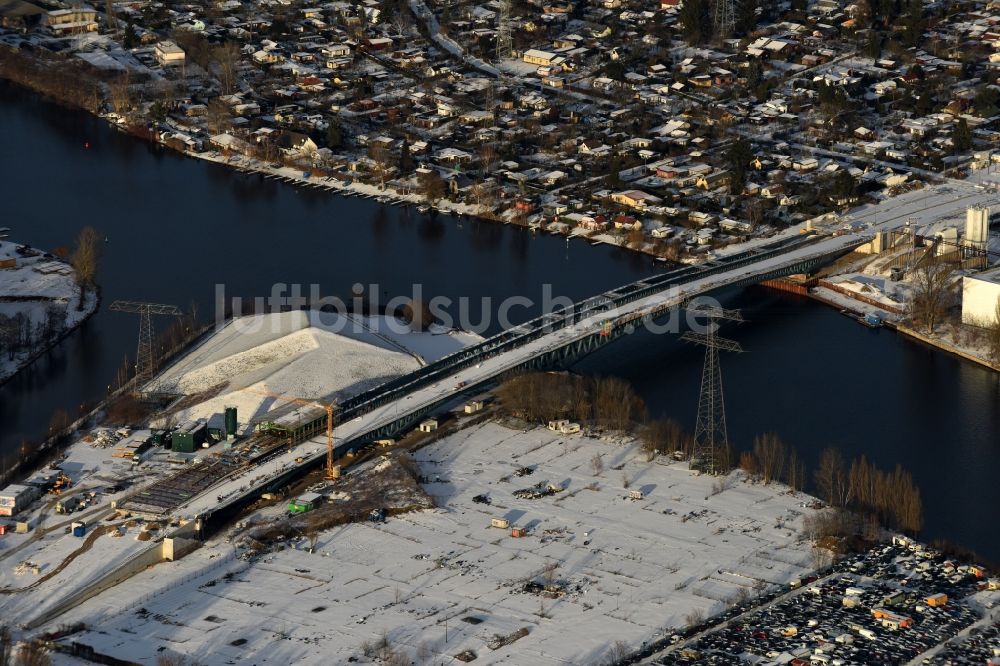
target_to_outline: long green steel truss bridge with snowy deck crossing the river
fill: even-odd
[[[647,322],[662,319],[696,296],[810,273],[868,240],[811,234],[783,238],[697,266],[665,271],[545,313],[340,403],[334,455],[340,458],[376,439],[396,436],[443,406],[508,376],[565,368]],[[325,415],[317,416],[316,423],[303,424],[304,430],[324,431],[325,419]],[[202,497],[202,502],[190,505],[201,518],[201,533],[214,531],[261,492],[276,490],[319,467],[326,456],[325,437],[308,440],[288,455],[296,454],[302,462],[252,483],[252,488],[240,486],[238,492],[224,493],[223,502],[208,505]]]

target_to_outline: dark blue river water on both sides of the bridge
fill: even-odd
[[[280,282],[341,296],[356,283],[378,285],[383,296],[420,284],[425,296],[471,299],[478,323],[509,296],[540,303],[543,284],[578,299],[658,270],[608,246],[431,220],[238,174],[0,83],[0,226],[12,228],[12,240],[53,248],[72,245],[85,225],[106,236],[104,305],[0,387],[0,454],[40,436],[55,409],[75,413],[104,395],[138,333],[134,315],[107,310],[114,299],[194,303],[207,319],[217,285],[249,297]],[[1000,375],[801,297],[760,287],[721,296],[748,320],[725,331],[746,349],[723,358],[737,447],[774,431],[810,467],[827,446],[884,468],[901,463],[923,491],[923,538],[1000,560]],[[515,309],[512,318],[534,312]],[[628,379],[653,415],[693,427],[701,362],[700,349],[674,336],[637,333],[580,369]]]

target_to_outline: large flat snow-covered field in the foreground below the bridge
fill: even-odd
[[[634,443],[488,423],[415,458],[436,509],[334,528],[314,553],[302,540],[249,564],[209,542],[58,622],[98,624],[74,639],[139,663],[161,647],[212,664],[366,663],[362,644],[385,634],[418,663],[471,650],[477,664],[582,665],[811,565],[799,538],[810,498],[736,480],[713,494],[717,479],[647,462]],[[518,476],[521,467],[533,472]],[[629,499],[625,479],[642,499]],[[540,482],[562,490],[512,494]],[[473,501],[481,494],[491,505]],[[492,518],[528,535],[491,528]],[[522,628],[510,645],[487,645]]]

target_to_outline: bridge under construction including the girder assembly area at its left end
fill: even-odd
[[[277,490],[349,451],[405,432],[429,414],[508,376],[568,367],[697,296],[809,273],[868,241],[870,236],[860,234],[785,236],[623,285],[545,313],[340,403],[336,425],[326,436],[322,433],[330,421],[325,410],[297,410],[301,422],[284,423],[280,438],[272,437],[281,445],[266,447],[266,455],[213,467],[196,483],[183,472],[172,475],[122,506],[194,519],[199,534],[208,536],[261,493]]]

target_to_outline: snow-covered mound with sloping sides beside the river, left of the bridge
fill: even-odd
[[[151,382],[154,392],[192,395],[225,384],[175,420],[211,418],[226,406],[250,419],[290,399],[346,398],[477,342],[478,336],[408,330],[388,317],[294,311],[239,317]]]

